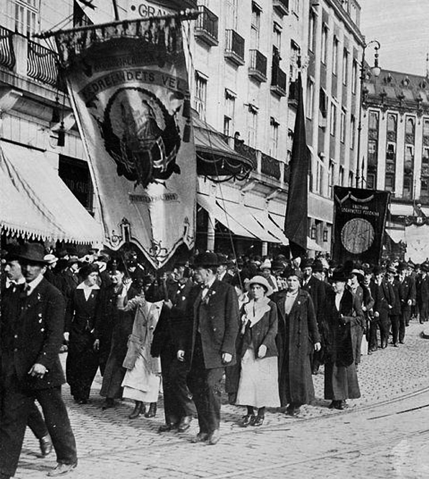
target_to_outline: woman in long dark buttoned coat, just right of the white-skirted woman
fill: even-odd
[[[288,288],[273,297],[278,308],[278,387],[281,406],[291,416],[314,399],[310,354],[320,350],[313,301],[300,288],[301,271],[284,273]]]

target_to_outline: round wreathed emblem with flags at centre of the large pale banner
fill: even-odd
[[[119,176],[146,188],[180,173],[176,164],[179,128],[174,115],[150,91],[119,88],[106,105],[101,128]]]

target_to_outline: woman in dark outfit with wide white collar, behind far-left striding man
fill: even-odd
[[[83,282],[71,293],[66,310],[66,336],[69,354],[66,361],[70,393],[78,404],[86,404],[98,369],[95,347],[95,311],[100,288],[97,285],[98,266],[88,264],[80,271]]]

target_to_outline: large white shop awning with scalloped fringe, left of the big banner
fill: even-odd
[[[100,225],[44,152],[0,142],[0,225],[27,239],[103,242]]]

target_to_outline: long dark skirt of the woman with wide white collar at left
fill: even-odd
[[[66,378],[74,399],[88,399],[98,369],[98,352],[93,350],[93,335],[70,331]]]

